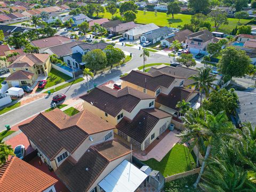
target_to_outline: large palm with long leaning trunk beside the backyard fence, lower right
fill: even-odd
[[[197,188],[202,177],[210,153],[217,154],[220,150],[222,139],[233,138],[232,134],[234,133],[233,124],[228,121],[228,118],[223,111],[217,115],[213,115],[209,112],[205,118],[197,118],[196,122],[195,125],[199,126],[202,130],[202,135],[205,139],[204,143],[207,148],[198,178],[193,185],[195,188]]]

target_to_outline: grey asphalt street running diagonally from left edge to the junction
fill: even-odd
[[[122,47],[121,45],[116,45],[117,47]],[[118,66],[113,68],[111,71],[107,71],[104,74],[100,74],[97,77],[94,77],[94,81],[90,81],[90,88],[93,87],[93,84],[103,84],[110,80],[117,81],[119,79],[119,75],[123,73],[127,73],[132,69],[135,69],[141,65],[143,65],[143,59],[140,57],[142,53],[141,50],[134,49],[132,47],[122,47],[122,50],[131,52],[133,54],[133,59],[129,61],[127,64]],[[166,55],[151,53],[150,57],[147,59],[147,63],[156,63],[156,62],[171,62],[172,58],[169,58]],[[24,119],[27,119],[35,114],[44,111],[47,108],[51,107],[51,99],[57,93],[65,93],[67,95],[66,99],[76,98],[79,95],[85,94],[87,91],[87,83],[86,81],[79,82],[77,84],[71,85],[63,90],[53,93],[50,98],[41,98],[37,99],[33,102],[28,103],[27,105],[21,106],[17,109],[12,110],[9,113],[5,113],[0,116],[0,132],[5,130],[4,125],[9,124],[13,126]]]

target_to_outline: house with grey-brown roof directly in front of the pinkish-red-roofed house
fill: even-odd
[[[70,43],[65,43],[62,45],[56,45],[56,46],[52,46],[48,49],[46,49],[44,52],[45,53],[49,53],[49,54],[55,54],[58,56],[58,58],[63,58],[67,55],[72,54],[72,47],[79,45],[79,44],[83,44],[84,42],[81,41],[74,41],[74,42],[70,42]]]

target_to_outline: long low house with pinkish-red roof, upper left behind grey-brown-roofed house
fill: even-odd
[[[33,46],[36,46],[39,48],[39,53],[43,53],[46,49],[56,46],[56,45],[62,45],[65,43],[73,42],[73,39],[70,39],[68,37],[63,37],[59,35],[55,35],[53,37],[38,39],[35,41],[31,41],[30,44]]]

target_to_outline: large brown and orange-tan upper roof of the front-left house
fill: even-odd
[[[62,148],[72,154],[89,134],[115,127],[87,110],[69,117],[57,108],[19,128],[47,157],[54,159]]]

